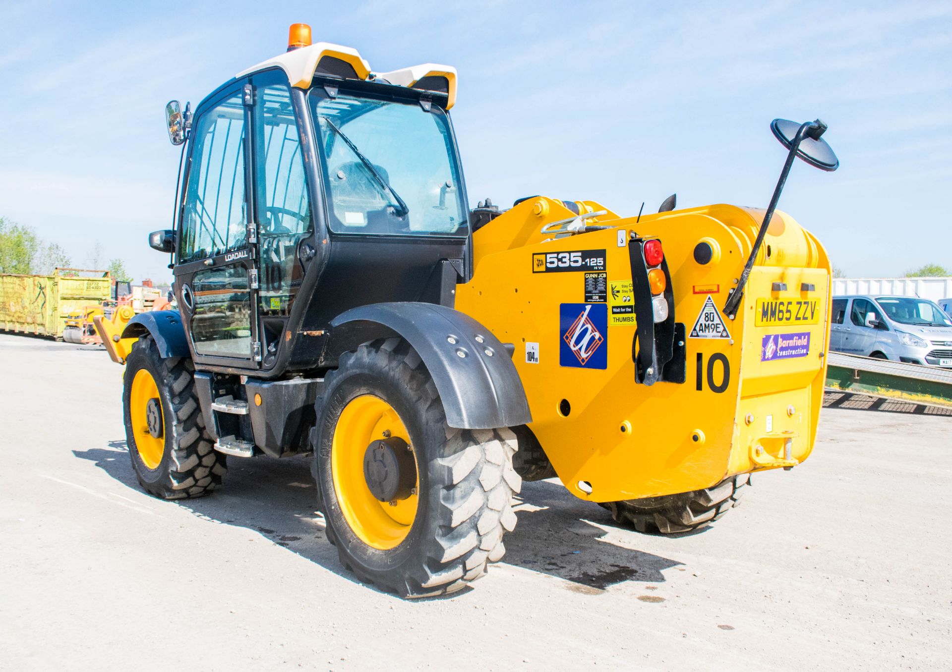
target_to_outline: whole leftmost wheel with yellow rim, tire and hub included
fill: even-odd
[[[126,361],[123,409],[132,469],[147,492],[165,500],[200,497],[217,489],[227,470],[212,449],[194,391],[194,367],[162,358],[149,335]]]

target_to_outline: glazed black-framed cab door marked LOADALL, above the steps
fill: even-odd
[[[261,361],[246,87],[225,89],[192,123],[175,287],[196,364]]]

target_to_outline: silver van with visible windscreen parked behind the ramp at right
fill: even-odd
[[[952,367],[952,320],[913,296],[835,296],[830,349]]]

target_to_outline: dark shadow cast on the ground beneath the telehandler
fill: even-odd
[[[73,454],[141,492],[125,441]],[[616,543],[612,538],[631,535],[636,541],[638,535],[615,527],[605,509],[576,499],[557,481],[526,483],[516,499],[519,523],[514,533],[506,535],[503,563],[557,577],[576,592],[600,594],[625,582],[661,583],[664,570],[680,564]],[[327,543],[323,519],[315,511],[308,458],[231,458],[220,491],[169,505],[211,523],[245,527],[348,581],[362,583],[344,569],[336,549]],[[617,534],[601,525],[614,527]]]

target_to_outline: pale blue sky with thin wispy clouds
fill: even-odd
[[[850,276],[952,266],[952,3],[0,4],[0,215],[89,261],[168,279],[178,151],[163,108],[285,49],[288,25],[371,69],[447,63],[469,200],[542,193],[627,214],[764,207],[768,124],[822,117],[841,168],[798,163],[780,208]],[[942,196],[946,194],[946,196]]]

